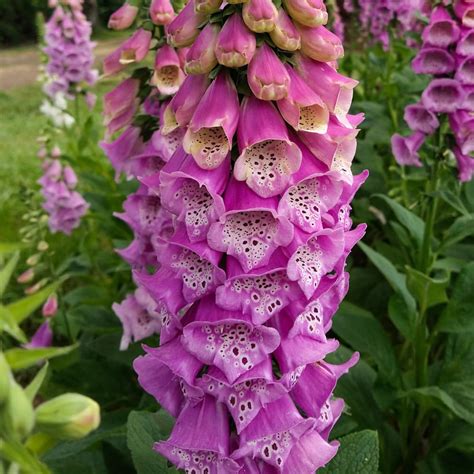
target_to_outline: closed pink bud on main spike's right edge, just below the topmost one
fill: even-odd
[[[324,26],[297,25],[301,35],[301,52],[315,61],[332,62],[344,56],[341,39]]]

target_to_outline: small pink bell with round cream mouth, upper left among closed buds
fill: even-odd
[[[155,71],[151,83],[164,95],[178,91],[184,81],[184,72],[176,51],[168,45],[162,46],[156,53]]]

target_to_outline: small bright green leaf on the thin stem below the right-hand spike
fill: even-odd
[[[406,266],[405,269],[408,289],[411,294],[415,295],[420,308],[427,309],[448,301],[446,294],[446,289],[449,286],[448,274],[444,278],[434,279],[409,266]]]

